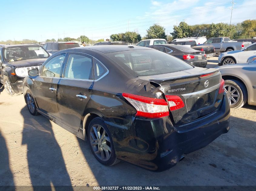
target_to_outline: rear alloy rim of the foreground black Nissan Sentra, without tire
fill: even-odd
[[[106,130],[99,124],[90,129],[90,143],[95,155],[102,161],[108,161],[111,156],[111,142]]]

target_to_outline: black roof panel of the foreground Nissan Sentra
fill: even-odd
[[[120,51],[128,51],[128,50],[144,50],[144,49],[149,49],[152,50],[151,48],[147,48],[144,46],[132,46],[132,45],[98,45],[98,46],[85,46],[85,47],[77,47],[77,48],[71,48],[71,49],[65,49],[62,52],[85,52],[87,49],[89,50],[96,50],[101,53],[113,53],[113,52],[120,52]]]

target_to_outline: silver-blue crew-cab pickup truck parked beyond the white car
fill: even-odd
[[[213,45],[215,48],[215,52],[223,53],[229,52],[233,50],[241,50],[249,46],[251,42],[237,42],[231,41],[228,37],[217,37],[217,38],[210,38],[206,40],[206,42],[202,45]],[[201,46],[201,45],[198,45]]]

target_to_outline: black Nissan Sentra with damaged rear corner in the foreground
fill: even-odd
[[[88,139],[104,165],[166,170],[229,130],[220,72],[146,47],[62,50],[29,71],[23,92],[32,115]]]

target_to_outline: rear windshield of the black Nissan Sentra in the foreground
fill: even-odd
[[[193,68],[188,63],[157,50],[130,50],[105,55],[136,76],[167,74]]]

